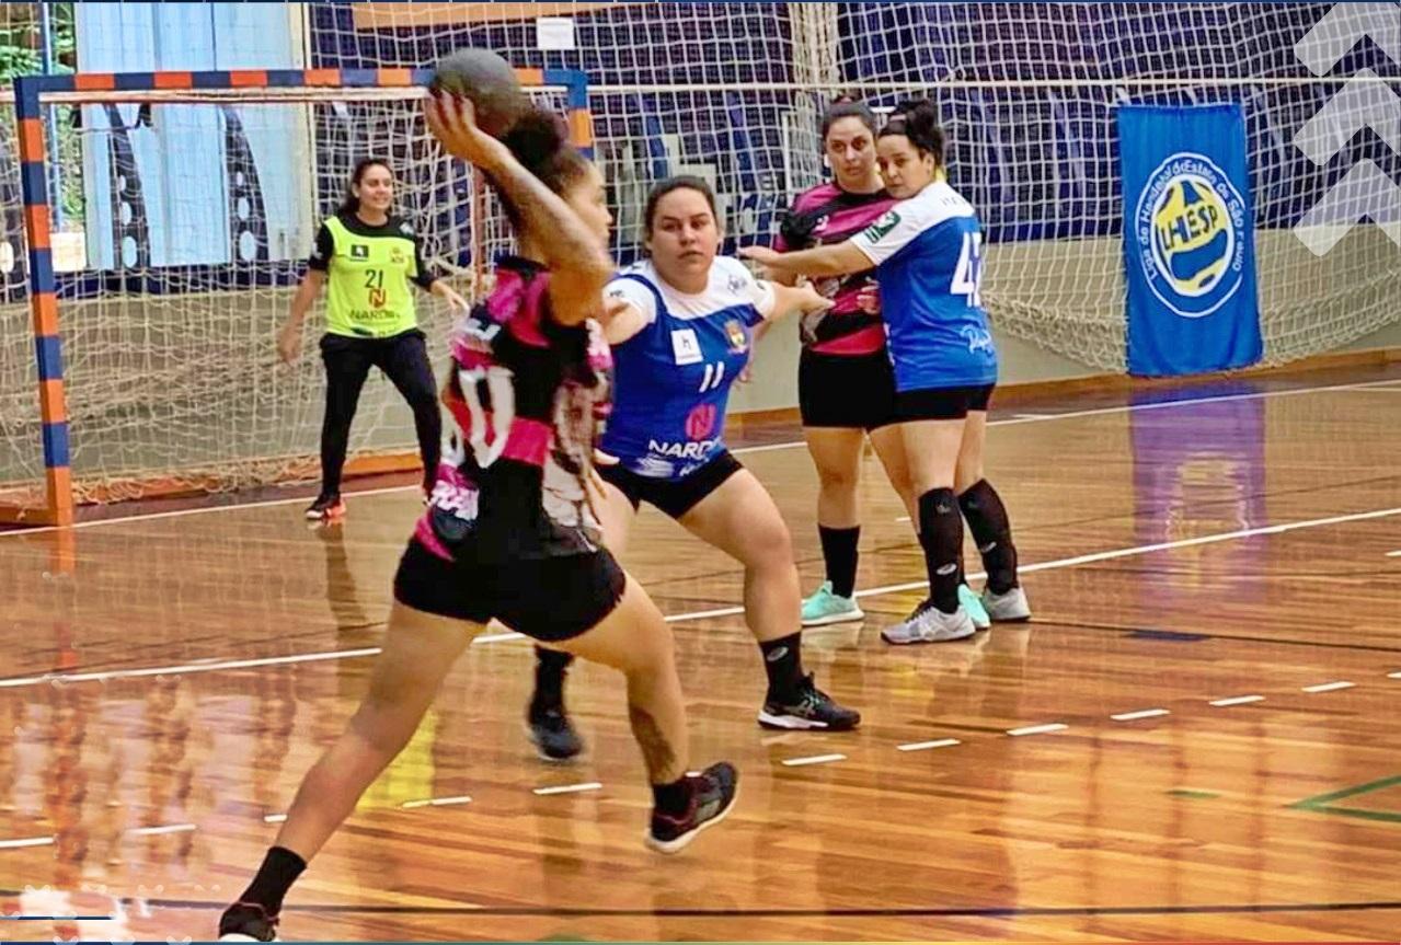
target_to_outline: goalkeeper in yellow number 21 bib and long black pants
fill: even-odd
[[[350,175],[349,193],[335,216],[321,224],[307,263],[307,276],[291,300],[291,314],[277,337],[277,354],[293,363],[301,351],[301,328],[322,284],[326,330],[321,360],[326,365],[326,413],[321,423],[321,493],[307,518],[345,515],[340,472],[350,441],[350,423],[370,368],[380,368],[413,410],[413,430],[423,458],[425,494],[437,475],[443,438],[437,384],[419,330],[409,283],[433,293],[453,308],[467,301],[436,279],[423,263],[413,227],[391,213],[394,172],[380,158],[364,158]]]

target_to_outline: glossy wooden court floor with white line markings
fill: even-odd
[[[1031,624],[880,641],[922,564],[867,459],[867,620],[804,644],[866,722],[766,734],[738,570],[644,512],[626,563],[674,620],[692,756],[741,769],[734,816],[647,853],[619,679],[573,673],[588,753],[548,767],[530,648],[489,636],[283,935],[1395,941],[1401,365],[995,421]],[[740,433],[811,589],[797,431]],[[381,489],[314,532],[304,501],[0,535],[0,938],[213,932],[364,689],[417,511]]]

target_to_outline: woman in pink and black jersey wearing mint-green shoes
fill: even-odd
[[[793,202],[778,252],[841,244],[897,203],[876,164],[876,116],[864,102],[841,98],[822,118],[822,153],[832,181]],[[782,276],[778,276],[782,279]],[[792,277],[789,279],[792,281]],[[856,603],[862,447],[869,438],[911,521],[918,521],[905,448],[895,424],[895,375],[885,350],[873,272],[817,280],[831,309],[803,319],[797,396],[803,438],[817,465],[817,532],[827,580],[803,601],[803,626],[860,620]],[[978,596],[960,585],[974,619],[986,623]]]

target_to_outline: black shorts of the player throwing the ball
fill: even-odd
[[[394,599],[472,623],[496,617],[527,637],[559,643],[598,626],[626,582],[605,550],[482,564],[447,561],[410,539],[394,575]]]

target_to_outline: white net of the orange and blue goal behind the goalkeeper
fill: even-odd
[[[566,116],[567,90],[530,94]],[[427,132],[422,95],[413,85],[46,97],[56,99],[43,105],[50,119],[60,106],[77,115],[60,136],[74,137],[66,146],[80,162],[50,167],[49,185],[78,195],[66,214],[50,210],[63,216],[50,258],[78,504],[318,475],[325,294],[300,360],[279,363],[275,340],[317,227],[360,158],[389,161],[395,211],[416,227],[429,265],[464,295],[485,288],[486,260],[509,249],[503,216],[469,165]],[[10,155],[20,151],[8,144]],[[20,174],[14,161],[0,167],[7,209],[21,204]],[[18,242],[7,258],[22,265]],[[453,315],[426,294],[417,311],[440,367]],[[42,508],[45,428],[22,284],[0,319],[0,503]],[[409,409],[374,372],[350,469],[416,462]]]

